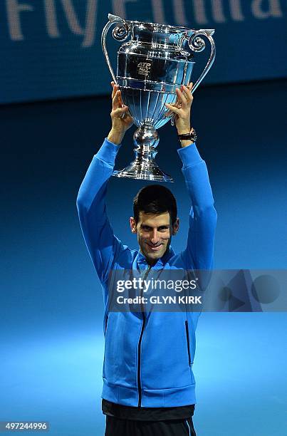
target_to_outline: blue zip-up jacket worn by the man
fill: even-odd
[[[108,312],[110,271],[148,269],[139,251],[115,237],[106,212],[105,194],[119,147],[105,139],[77,199],[83,236],[104,294],[102,398],[142,408],[195,404],[192,363],[199,313]],[[177,151],[192,205],[187,246],[179,254],[170,248],[152,269],[211,269],[216,210],[207,166],[195,144]]]

